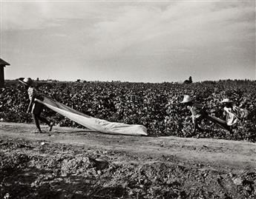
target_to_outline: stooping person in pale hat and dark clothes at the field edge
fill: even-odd
[[[192,135],[197,132],[197,129],[203,131],[203,129],[201,129],[198,124],[200,124],[203,118],[206,118],[207,113],[204,109],[204,106],[194,103],[189,95],[184,95],[183,101],[181,101],[181,103],[185,104],[186,107],[191,111],[192,122],[194,126]]]

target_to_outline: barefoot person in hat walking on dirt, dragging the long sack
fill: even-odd
[[[24,84],[24,87],[27,90],[28,96],[30,98],[30,104],[27,107],[27,113],[31,112],[33,116],[33,120],[36,124],[37,131],[35,133],[41,133],[42,130],[39,125],[39,121],[45,122],[49,126],[49,131],[53,128],[54,123],[47,121],[46,118],[43,118],[41,116],[42,109],[44,107],[43,104],[39,103],[38,101],[35,101],[35,99],[39,99],[41,101],[44,100],[44,96],[40,94],[35,87],[33,87],[33,80],[31,78],[24,78],[19,79],[19,81]]]

